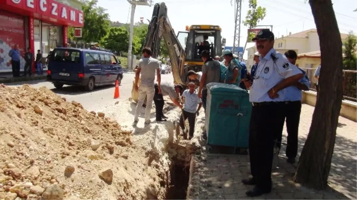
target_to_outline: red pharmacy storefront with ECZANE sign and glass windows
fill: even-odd
[[[0,72],[11,72],[9,51],[19,45],[24,54],[30,47],[46,58],[56,47],[67,47],[67,28],[83,27],[82,2],[78,0],[0,0]],[[32,71],[35,68],[32,67]]]

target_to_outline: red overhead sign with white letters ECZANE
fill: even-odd
[[[0,0],[1,8],[47,23],[83,27],[83,12],[55,0]]]

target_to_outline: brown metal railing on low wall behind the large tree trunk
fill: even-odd
[[[316,91],[315,84],[317,83],[317,78],[315,78],[316,69],[311,68],[301,68],[303,69],[307,77],[310,79],[310,89]],[[357,102],[357,71],[353,70],[343,70],[343,98],[346,100]]]

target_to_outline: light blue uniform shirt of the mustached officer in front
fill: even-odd
[[[284,90],[278,91],[279,97],[275,99],[269,97],[268,91],[284,79],[301,74],[301,70],[291,64],[283,54],[275,51],[274,48],[270,49],[265,57],[260,56],[259,60],[249,92],[249,101],[285,101]]]

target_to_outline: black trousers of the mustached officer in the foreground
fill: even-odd
[[[281,131],[283,102],[254,105],[250,120],[249,158],[253,179],[261,189],[271,189],[274,140]]]

